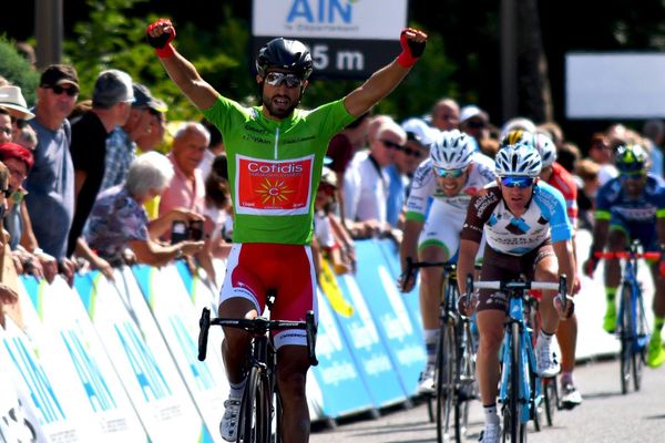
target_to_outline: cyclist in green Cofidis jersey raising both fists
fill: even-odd
[[[171,41],[170,20],[149,25],[147,41],[166,72],[190,101],[223,134],[228,157],[228,183],[234,209],[233,248],[219,296],[219,317],[263,313],[267,291],[276,291],[273,318],[304,320],[316,312],[316,276],[309,244],[314,197],[330,138],[388,95],[424,50],[427,34],[405,29],[401,54],[375,72],[344,99],[313,111],[296,109],[308,85],[313,61],[295,40],[274,39],[256,60],[262,105],[242,106],[206,83]],[[278,385],[284,405],[283,441],[306,442],[309,412],[305,379],[309,361],[305,337],[296,330],[274,336]],[[237,412],[244,389],[242,364],[248,337],[225,330],[222,353],[231,396],[221,423],[222,436],[235,441]]]

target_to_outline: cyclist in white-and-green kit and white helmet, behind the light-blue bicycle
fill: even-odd
[[[413,174],[401,243],[402,272],[407,258],[415,261],[448,261],[460,246],[460,231],[471,196],[494,181],[492,161],[474,151],[472,138],[458,131],[434,135],[430,158]],[[428,202],[432,200],[431,208]],[[428,212],[429,209],[429,212]],[[410,291],[415,276],[400,277],[402,291]],[[433,392],[441,269],[423,268],[420,312],[424,328],[427,365],[419,380],[421,393]]]

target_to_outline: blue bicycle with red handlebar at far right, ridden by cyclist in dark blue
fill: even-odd
[[[597,258],[623,259],[622,289],[618,302],[618,322],[616,337],[621,342],[620,370],[621,392],[626,394],[633,380],[633,388],[640,391],[642,372],[646,362],[646,350],[649,337],[649,327],[644,309],[642,286],[637,281],[637,260],[657,260],[661,253],[641,253],[640,243],[633,241],[626,251],[608,251],[594,254]]]

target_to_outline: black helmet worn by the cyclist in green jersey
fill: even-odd
[[[265,75],[268,68],[294,71],[300,79],[306,80],[311,74],[311,55],[297,40],[273,39],[258,51],[256,58],[256,72],[259,75]]]

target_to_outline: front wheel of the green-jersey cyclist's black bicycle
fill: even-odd
[[[247,377],[238,418],[238,443],[270,442],[272,392],[264,371],[253,367]]]

